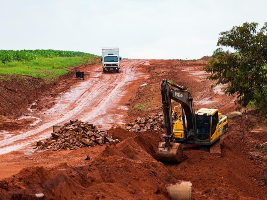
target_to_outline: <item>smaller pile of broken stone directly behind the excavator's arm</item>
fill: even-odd
[[[146,130],[164,131],[164,116],[156,113],[155,115],[148,115],[148,117],[141,119],[137,117],[135,123],[129,123],[125,127],[129,131],[144,132]]]

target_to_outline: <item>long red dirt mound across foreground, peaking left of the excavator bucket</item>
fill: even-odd
[[[140,136],[137,141],[147,143],[149,138]],[[43,193],[44,199],[170,199],[165,185],[177,182],[136,137],[111,143],[100,157],[83,162],[23,169],[0,181],[0,199],[36,199],[36,193]]]

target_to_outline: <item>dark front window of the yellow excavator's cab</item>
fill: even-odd
[[[196,137],[197,140],[209,141],[211,117],[207,115],[197,115]]]

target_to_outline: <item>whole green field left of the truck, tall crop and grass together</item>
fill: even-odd
[[[19,74],[53,81],[66,69],[82,65],[99,56],[84,52],[56,50],[0,50],[0,74]]]

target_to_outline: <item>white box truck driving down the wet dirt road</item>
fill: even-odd
[[[120,69],[119,47],[102,47],[102,67],[103,72],[107,71],[119,73]]]

